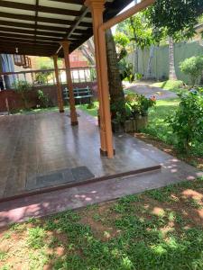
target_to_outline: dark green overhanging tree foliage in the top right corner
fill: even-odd
[[[194,35],[194,26],[202,12],[202,0],[157,0],[146,15],[157,31],[165,31],[166,35],[177,40],[177,33],[186,39]]]

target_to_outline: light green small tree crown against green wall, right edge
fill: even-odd
[[[202,75],[203,57],[197,56],[192,58],[186,58],[180,63],[180,69],[183,73],[190,76],[192,85],[195,85],[198,77]]]

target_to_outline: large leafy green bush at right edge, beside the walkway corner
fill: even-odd
[[[178,138],[179,148],[189,152],[203,138],[203,90],[192,89],[179,95],[180,106],[167,121]]]

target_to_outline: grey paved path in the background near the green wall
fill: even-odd
[[[130,85],[126,87],[127,90],[130,90],[136,94],[144,94],[146,97],[151,97],[152,95],[156,96],[157,100],[162,100],[162,99],[170,99],[170,98],[177,98],[177,94],[168,91],[168,90],[163,90],[162,88],[148,85],[148,84],[135,84],[135,85]]]

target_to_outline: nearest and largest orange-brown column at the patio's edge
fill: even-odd
[[[95,39],[96,64],[97,64],[97,86],[100,114],[100,140],[101,154],[109,158],[114,157],[113,136],[111,128],[111,114],[109,103],[108,80],[104,84],[101,68],[101,58],[104,57],[103,50],[106,49],[99,43],[98,29],[103,23],[103,12],[105,10],[105,0],[86,0],[85,4],[90,8],[93,20],[93,32]],[[106,55],[105,55],[106,56]],[[107,66],[105,66],[107,72]],[[106,87],[107,85],[107,87]]]

